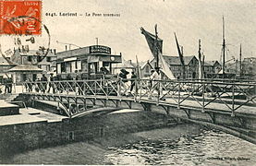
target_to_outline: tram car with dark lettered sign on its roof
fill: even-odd
[[[122,62],[122,55],[111,54],[111,48],[104,45],[91,45],[74,50],[56,53],[56,74],[62,79],[98,78],[112,74],[112,66]]]

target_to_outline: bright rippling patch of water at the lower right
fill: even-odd
[[[256,146],[218,131],[178,140],[145,140],[108,148],[105,161],[113,164],[254,165]]]

